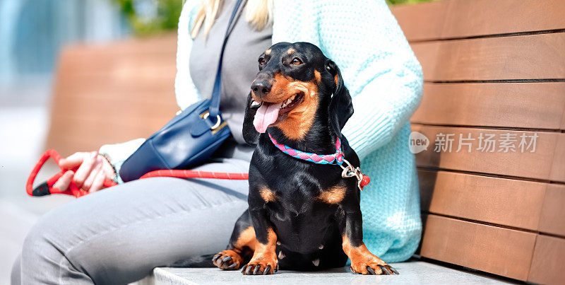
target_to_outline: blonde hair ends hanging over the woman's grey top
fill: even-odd
[[[198,31],[204,26],[204,35],[210,33],[210,28],[218,16],[218,9],[224,4],[224,0],[202,0],[196,21],[190,36],[194,39]],[[273,0],[247,0],[245,4],[245,21],[250,23],[256,30],[263,30],[267,25],[273,23]]]

